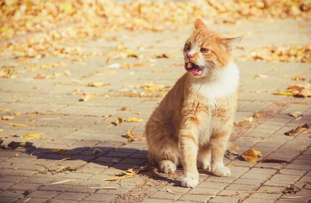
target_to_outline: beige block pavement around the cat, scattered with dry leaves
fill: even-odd
[[[308,44],[311,30],[300,27],[300,24],[310,25],[310,21],[284,19],[276,20],[273,24],[246,22],[230,27],[222,24],[211,27],[226,36],[246,34],[240,47],[247,50],[273,44]],[[245,49],[236,52],[241,79],[235,121],[243,121],[254,113],[260,113],[262,117],[254,118],[252,123],[245,126],[235,127],[232,142],[239,146],[236,150],[239,155],[231,154],[224,158],[232,171],[231,177],[214,177],[209,171],[200,171],[200,183],[194,189],[180,187],[181,169],[174,175],[143,173],[121,182],[100,181],[115,177],[114,174],[129,168],[147,165],[146,141],[127,143],[125,135],[130,129],[135,136],[144,134],[145,123],[162,95],[184,73],[181,48],[191,29],[192,25],[184,25],[160,33],[120,31],[107,33],[106,39],[79,44],[85,51],[108,52],[123,42],[125,47],[149,56],[110,60],[110,64],[119,64],[120,68],[105,65],[107,57],[86,58],[83,62],[47,57],[34,59],[30,65],[63,62],[67,66],[28,71],[25,65],[17,64],[13,77],[0,78],[0,116],[21,113],[12,120],[0,121],[2,144],[7,146],[11,141],[33,143],[33,147],[6,147],[0,150],[0,200],[6,203],[23,203],[27,200],[28,203],[49,200],[52,203],[310,202],[311,134],[294,137],[284,133],[303,123],[311,124],[311,99],[273,95],[272,92],[285,90],[293,83],[302,83],[293,81],[293,76],[305,76],[309,80],[311,66],[307,63],[245,62],[242,58]],[[108,40],[111,37],[115,39]],[[162,53],[173,57],[152,57]],[[10,55],[0,57],[1,66],[16,62]],[[138,65],[123,68],[124,63]],[[58,76],[66,70],[70,74]],[[33,78],[45,73],[56,78]],[[258,74],[267,77],[254,78]],[[109,85],[87,85],[95,81]],[[144,90],[146,83],[165,87],[162,92],[149,92]],[[95,98],[83,102],[83,93],[93,93]],[[302,119],[295,120],[288,115],[295,111],[302,112]],[[118,117],[122,120],[137,117],[143,122],[111,124]],[[11,126],[8,123],[30,126]],[[29,133],[44,135],[27,140],[23,135]],[[240,154],[250,148],[261,151],[263,157],[260,159],[271,157],[286,162],[246,162]],[[53,153],[51,149],[65,149],[65,154]],[[94,153],[95,149],[98,149],[98,153]],[[64,158],[70,159],[60,162]],[[79,169],[52,175],[44,166],[56,170],[63,166]],[[48,185],[67,180],[71,181]],[[233,195],[237,191],[283,191],[290,186],[299,192],[240,193],[239,196],[227,197],[206,195]],[[116,187],[118,190],[88,187]],[[175,194],[168,193],[167,188],[176,191]]]

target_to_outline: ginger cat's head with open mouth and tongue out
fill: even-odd
[[[226,38],[206,27],[201,19],[184,46],[185,69],[195,77],[215,77],[232,59],[233,50],[243,36]]]

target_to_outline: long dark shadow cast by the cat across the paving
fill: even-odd
[[[9,148],[4,150],[11,150]],[[37,158],[37,161],[34,160],[31,163],[28,164],[41,164],[45,160],[64,160],[62,162],[55,162],[54,165],[51,166],[51,164],[41,164],[47,167],[53,167],[53,168],[61,168],[63,166],[75,166],[79,167],[81,165],[75,165],[77,162],[71,163],[70,161],[81,161],[81,163],[93,163],[99,166],[96,166],[96,168],[100,168],[102,166],[105,169],[111,168],[111,169],[119,169],[122,171],[128,170],[128,169],[143,169],[144,167],[150,167],[151,164],[148,161],[147,158],[147,150],[140,150],[135,148],[120,148],[116,149],[113,147],[77,147],[72,149],[65,149],[65,151],[60,152],[53,152],[55,149],[52,148],[40,148],[40,147],[25,147],[25,148],[17,148],[13,151],[19,150],[20,152],[24,152],[29,154],[32,158]],[[68,152],[68,154],[66,154]],[[134,153],[133,153],[134,152]],[[65,153],[65,154],[60,154]],[[114,154],[114,155],[112,155]],[[120,157],[124,154],[124,157]],[[128,155],[126,155],[128,154]],[[129,155],[131,154],[131,155]],[[65,160],[66,158],[70,158],[68,160]],[[87,167],[86,164],[86,167]],[[82,164],[83,166],[85,164]],[[92,165],[94,167],[94,165]],[[168,183],[171,183],[174,181],[174,174],[163,174],[160,173],[159,167],[157,165],[154,165],[154,167],[158,170],[141,170],[139,173],[143,174],[143,176],[152,178],[154,180],[161,180],[166,181]],[[83,167],[81,167],[83,170]],[[38,171],[42,171],[40,169],[37,169]],[[79,170],[79,169],[78,169]],[[48,172],[48,169],[46,169]],[[61,173],[71,173],[70,171],[62,171]],[[103,175],[104,177],[104,175]],[[176,177],[175,177],[176,178]],[[104,179],[104,178],[103,178]],[[179,182],[180,186],[180,182]]]

